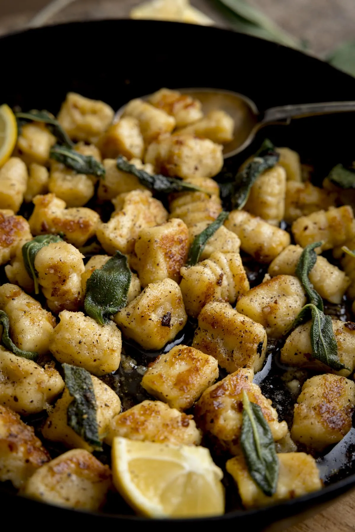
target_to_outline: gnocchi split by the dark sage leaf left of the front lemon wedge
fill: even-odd
[[[111,419],[121,412],[121,401],[118,395],[102,380],[92,375],[94,393],[96,398],[96,420],[98,437],[103,441],[110,429]],[[63,395],[55,403],[54,409],[49,413],[45,426],[42,429],[44,438],[52,442],[61,442],[69,448],[80,448],[92,452],[93,447],[79,436],[68,425],[68,406],[73,401],[67,387]]]

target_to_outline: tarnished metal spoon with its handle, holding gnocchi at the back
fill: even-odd
[[[355,102],[324,102],[302,103],[271,107],[259,112],[254,102],[243,94],[231,90],[209,88],[177,89],[180,93],[189,94],[202,102],[202,110],[208,113],[213,109],[222,109],[230,114],[235,121],[234,139],[224,146],[224,157],[236,155],[249,146],[257,131],[269,124],[288,124],[292,119],[311,117],[317,114],[331,114],[355,111]],[[142,96],[147,99],[150,95]],[[125,106],[115,115],[117,120]]]

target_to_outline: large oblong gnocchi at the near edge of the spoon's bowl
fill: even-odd
[[[222,146],[193,135],[162,135],[148,146],[144,161],[171,177],[213,177],[223,166]]]

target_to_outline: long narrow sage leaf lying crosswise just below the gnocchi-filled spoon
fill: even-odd
[[[121,170],[122,172],[131,173],[133,176],[136,176],[142,185],[147,188],[150,188],[151,190],[155,190],[155,192],[169,194],[170,192],[191,192],[193,190],[197,190],[199,192],[202,191],[201,187],[197,187],[196,185],[193,185],[192,183],[188,183],[181,179],[162,176],[158,173],[151,175],[145,170],[138,170],[138,168],[136,168],[134,164],[129,163],[121,155],[117,157],[116,164],[119,170]]]

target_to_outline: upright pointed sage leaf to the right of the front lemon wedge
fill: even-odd
[[[240,443],[255,484],[265,495],[273,495],[277,488],[279,467],[274,438],[260,406],[249,401],[245,390]]]

